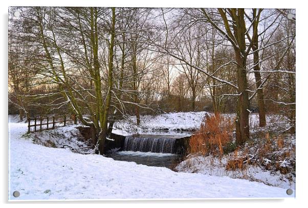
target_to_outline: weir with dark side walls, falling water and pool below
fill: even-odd
[[[85,140],[93,137],[90,127],[79,126],[78,129]],[[126,137],[112,134],[113,140],[105,141],[104,154],[118,161],[172,169],[187,154],[190,136],[157,133]]]

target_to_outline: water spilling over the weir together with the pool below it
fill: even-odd
[[[147,166],[170,168],[181,161],[176,153],[175,141],[183,136],[167,135],[138,135],[127,136],[123,151],[107,154],[114,160],[136,162]]]

